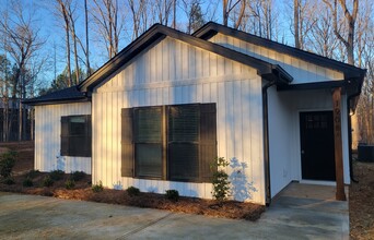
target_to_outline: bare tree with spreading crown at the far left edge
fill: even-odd
[[[11,77],[11,97],[13,109],[15,103],[19,104],[19,140],[24,134],[24,107],[22,99],[26,97],[27,85],[32,84],[34,79],[30,75],[32,71],[32,59],[40,50],[45,41],[38,37],[39,29],[35,27],[35,13],[30,10],[24,11],[24,7],[17,1],[11,1],[10,8],[4,10],[0,19],[0,33],[3,36],[4,51],[9,53],[14,63]],[[19,99],[17,99],[19,98]],[[14,111],[12,112],[14,118]]]

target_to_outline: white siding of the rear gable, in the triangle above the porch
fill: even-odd
[[[277,52],[270,48],[257,46],[221,33],[218,33],[211,37],[209,41],[222,45],[226,48],[246,53],[272,64],[279,64],[293,76],[293,82],[291,84],[336,81],[344,79],[343,73],[341,72],[313,64],[295,57]]]

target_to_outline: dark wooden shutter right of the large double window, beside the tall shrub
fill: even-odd
[[[200,181],[210,182],[211,163],[217,158],[215,104],[200,105]]]

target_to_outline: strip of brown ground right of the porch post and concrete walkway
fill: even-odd
[[[349,191],[351,239],[374,239],[374,163],[354,161],[354,177]]]

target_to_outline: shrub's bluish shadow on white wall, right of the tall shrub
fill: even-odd
[[[257,192],[254,182],[249,182],[245,173],[248,168],[246,163],[241,163],[236,157],[230,159],[231,175],[229,180],[231,182],[231,195],[236,201],[245,201],[253,199],[253,192]]]

